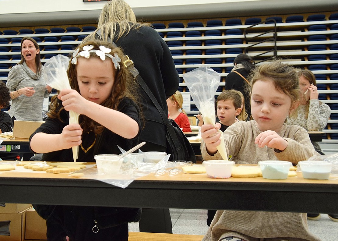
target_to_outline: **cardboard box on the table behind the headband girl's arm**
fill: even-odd
[[[16,140],[28,140],[44,121],[14,121],[13,137]]]

